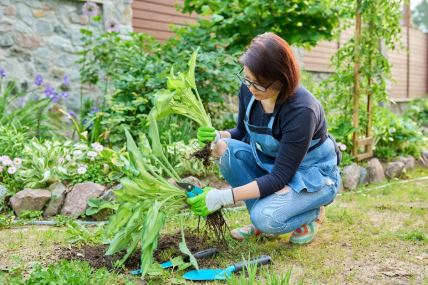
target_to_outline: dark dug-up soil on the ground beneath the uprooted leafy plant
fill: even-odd
[[[185,232],[186,244],[189,250],[193,253],[213,247],[202,237],[191,233]],[[164,262],[166,260],[161,259],[161,252],[169,250],[172,252],[172,256],[178,256],[182,253],[178,248],[178,244],[181,241],[181,233],[177,232],[172,235],[161,236],[158,248],[155,251],[154,257],[157,262]],[[124,252],[119,252],[114,255],[104,255],[107,251],[107,245],[83,245],[75,247],[65,247],[59,248],[57,253],[60,259],[66,260],[82,260],[87,261],[94,268],[105,267],[108,270],[115,270],[114,264],[116,261],[120,260],[124,255]],[[173,249],[173,250],[171,250]],[[198,259],[198,264],[201,267],[212,267],[217,266],[215,262],[215,257],[210,257],[206,259]],[[138,269],[140,267],[140,251],[136,250],[125,262],[126,270]]]

